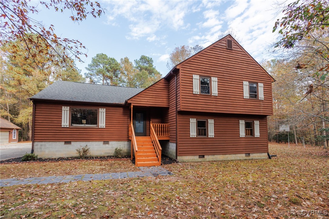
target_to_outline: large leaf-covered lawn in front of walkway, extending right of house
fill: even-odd
[[[163,166],[173,176],[3,187],[1,217],[304,217],[297,214],[300,210],[329,214],[328,150],[270,144],[270,153],[278,157]]]

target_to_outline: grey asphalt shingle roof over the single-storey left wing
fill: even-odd
[[[143,88],[57,81],[30,99],[123,104]]]

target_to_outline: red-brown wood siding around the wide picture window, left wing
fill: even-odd
[[[128,141],[128,107],[35,103],[34,141]],[[105,128],[62,127],[62,107],[105,108]]]

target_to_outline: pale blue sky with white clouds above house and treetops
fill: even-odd
[[[32,1],[33,2],[33,1]],[[54,25],[58,36],[77,39],[87,47],[87,58],[76,62],[81,73],[98,53],[120,61],[134,62],[149,56],[164,76],[170,53],[182,45],[202,45],[217,41],[219,34],[233,29],[244,49],[256,59],[269,60],[270,45],[278,37],[272,33],[276,19],[283,16],[275,9],[280,1],[99,1],[105,13],[99,18],[74,23],[69,12],[54,12],[38,5],[32,15],[45,25]],[[282,2],[282,1],[281,1]],[[37,3],[37,1],[35,1]]]

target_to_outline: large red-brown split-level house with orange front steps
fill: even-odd
[[[146,89],[55,82],[33,101],[39,157],[135,155],[137,166],[267,158],[274,79],[231,36],[176,65]]]

